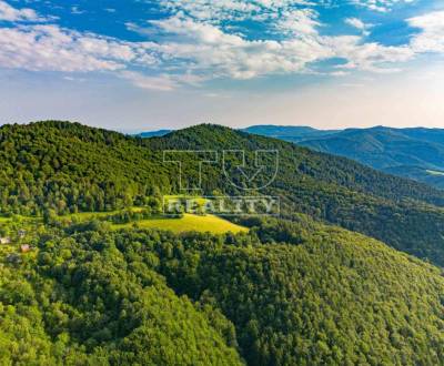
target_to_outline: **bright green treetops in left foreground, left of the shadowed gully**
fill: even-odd
[[[2,365],[241,364],[226,318],[178,297],[155,256],[125,261],[105,231],[47,234],[23,260],[0,267]]]

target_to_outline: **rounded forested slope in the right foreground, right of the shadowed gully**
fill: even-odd
[[[252,247],[190,242],[161,260],[175,291],[233,322],[250,365],[442,362],[440,271],[305,221],[269,222],[259,236]],[[193,261],[176,266],[181,256]]]

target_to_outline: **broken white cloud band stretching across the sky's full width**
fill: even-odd
[[[364,2],[389,7],[396,0],[360,0],[360,3]],[[353,70],[395,72],[400,64],[418,53],[444,53],[444,12],[408,19],[408,23],[421,32],[410,44],[389,47],[366,42],[365,35],[373,26],[357,18],[344,21],[361,34],[323,35],[321,30],[325,24],[312,3],[305,0],[221,0],[216,3],[167,0],[162,3],[172,12],[169,18],[150,21],[147,28],[127,24],[128,29],[149,34],[157,42],[121,41],[57,24],[0,28],[0,67],[115,72],[140,88],[168,91],[218,78],[244,80],[270,74],[310,73],[314,63],[333,58],[343,59],[344,63],[327,72],[331,75],[344,75]],[[21,18],[17,13],[22,11],[9,9],[8,17],[14,21],[24,19],[23,13]],[[256,19],[265,14],[263,39],[252,40],[242,33],[233,33],[220,23],[218,17],[222,12],[231,17],[244,17],[250,12]],[[39,19],[33,12],[27,14],[28,20]],[[275,19],[271,22],[269,18]]]

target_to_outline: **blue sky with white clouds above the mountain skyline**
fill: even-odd
[[[0,0],[0,122],[444,128],[441,0]]]

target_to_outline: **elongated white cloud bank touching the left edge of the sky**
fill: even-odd
[[[0,28],[0,65],[31,71],[89,72],[153,63],[141,44],[65,30],[58,26]]]

